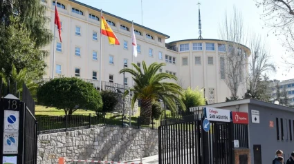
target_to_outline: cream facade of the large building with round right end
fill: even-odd
[[[55,27],[55,1],[42,2],[48,6],[51,22],[48,28]],[[165,43],[167,34],[157,32],[143,25],[134,23],[138,57],[132,57],[131,21],[103,12],[104,18],[118,37],[120,45],[109,45],[107,37],[100,43],[100,10],[74,0],[57,2],[59,18],[62,22],[62,43],[56,30],[55,39],[55,76],[77,76],[81,79],[99,80],[100,46],[102,45],[101,80],[111,83],[133,85],[130,74],[125,79],[118,72],[131,63],[142,66],[157,62],[166,63],[160,72],[167,72],[178,77],[183,88],[205,88],[208,103],[223,102],[230,96],[230,90],[223,81],[222,57],[225,55],[225,41],[216,39],[188,39]],[[50,56],[46,59],[46,76],[52,77],[53,46],[46,47]],[[240,52],[250,55],[250,50],[239,45]],[[133,61],[134,60],[134,61]],[[244,68],[246,70],[246,68]],[[246,71],[245,71],[246,72]],[[246,85],[242,84],[238,95],[244,96]]]

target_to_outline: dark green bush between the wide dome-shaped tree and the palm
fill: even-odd
[[[118,100],[120,98],[118,93],[105,90],[101,92],[101,96],[103,102],[102,111],[113,112],[114,107],[116,107],[116,105],[118,104]]]

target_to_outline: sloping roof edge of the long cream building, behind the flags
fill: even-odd
[[[100,9],[98,9],[98,8],[93,8],[92,6],[86,5],[85,3],[81,3],[81,2],[79,2],[79,1],[75,1],[75,0],[68,0],[68,1],[71,1],[71,2],[73,2],[73,3],[77,3],[77,4],[81,5],[81,6],[86,7],[86,8],[91,8],[92,10],[95,10],[95,11],[97,11],[97,12],[101,12]],[[126,21],[127,23],[132,23],[132,21],[129,21],[129,20],[127,20],[127,19],[123,19],[122,17],[118,17],[118,16],[116,16],[116,15],[114,15],[114,14],[111,14],[111,13],[109,13],[109,12],[104,12],[104,11],[103,11],[103,14],[107,14],[107,15],[109,15],[109,16],[111,16],[111,17],[115,17],[116,19],[120,19],[120,20],[122,20],[122,21]],[[136,26],[138,26],[138,27],[140,27],[140,28],[145,28],[146,30],[149,30],[149,31],[154,32],[154,33],[156,33],[156,34],[163,35],[163,36],[166,37],[166,39],[169,38],[169,35],[167,35],[167,34],[163,34],[163,33],[158,32],[158,31],[156,31],[156,30],[152,30],[151,28],[147,28],[147,27],[145,27],[145,26],[143,26],[143,25],[139,25],[138,23],[134,23],[134,25],[136,25]]]

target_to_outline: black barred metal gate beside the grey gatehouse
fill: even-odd
[[[233,164],[233,124],[210,122],[202,128],[203,115],[165,116],[158,127],[160,164]]]

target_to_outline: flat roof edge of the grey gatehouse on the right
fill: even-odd
[[[270,107],[270,108],[276,108],[279,110],[286,110],[286,111],[291,111],[294,112],[294,108],[292,107],[286,107],[283,105],[277,105],[274,103],[268,103],[265,101],[259,101],[256,99],[242,99],[242,100],[237,100],[237,101],[229,101],[229,102],[223,102],[223,103],[214,103],[210,105],[201,105],[198,107],[228,107],[228,106],[234,106],[234,105],[241,105],[241,104],[253,104],[253,105],[259,105],[259,106],[264,106],[264,107]],[[190,111],[194,112],[196,110],[195,107],[190,107]]]

